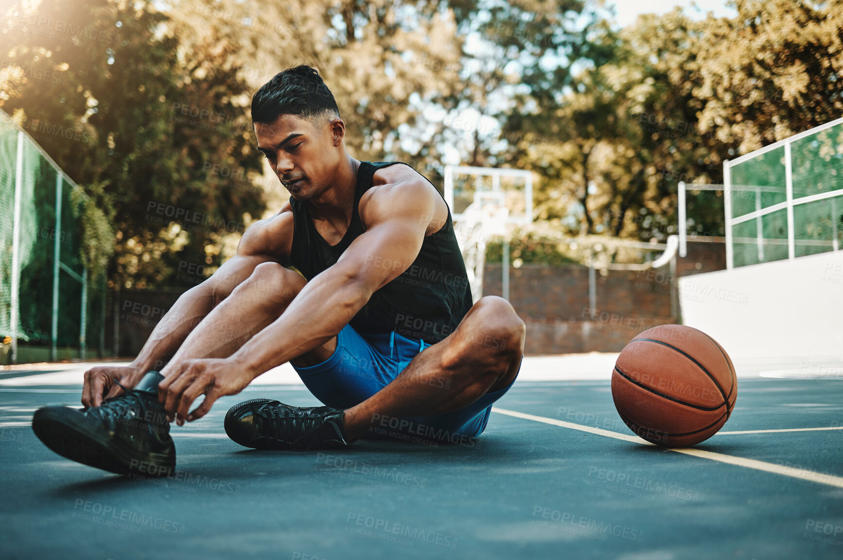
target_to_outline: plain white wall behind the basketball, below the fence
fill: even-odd
[[[681,277],[679,302],[733,358],[843,356],[843,250]]]

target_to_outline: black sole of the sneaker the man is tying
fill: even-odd
[[[32,417],[35,436],[58,455],[120,475],[135,472],[144,477],[163,477],[175,469],[175,458],[161,454],[133,454],[116,445],[104,433],[78,426],[74,422],[77,419],[73,417],[75,411],[67,410],[70,412],[37,410]],[[145,466],[145,471],[132,468],[132,463]],[[150,466],[153,468],[148,468]]]

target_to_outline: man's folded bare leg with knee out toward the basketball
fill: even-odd
[[[453,334],[416,355],[384,389],[346,409],[346,433],[351,439],[361,437],[376,413],[382,417],[444,414],[506,387],[518,374],[524,331],[524,321],[506,299],[481,298]]]

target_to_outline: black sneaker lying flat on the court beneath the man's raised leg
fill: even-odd
[[[289,407],[269,399],[252,399],[228,409],[225,433],[256,450],[333,449],[350,442],[345,412],[331,407]]]

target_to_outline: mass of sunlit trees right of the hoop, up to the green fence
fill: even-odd
[[[593,64],[526,82],[499,118],[510,137],[541,138],[517,137],[506,154],[540,176],[538,218],[570,235],[664,240],[679,180],[722,183],[724,159],[840,116],[843,2],[736,8],[733,19],[645,14],[620,31],[598,22],[583,45],[599,52]],[[538,61],[524,71],[535,73]],[[722,235],[722,198],[689,211],[695,229]]]

